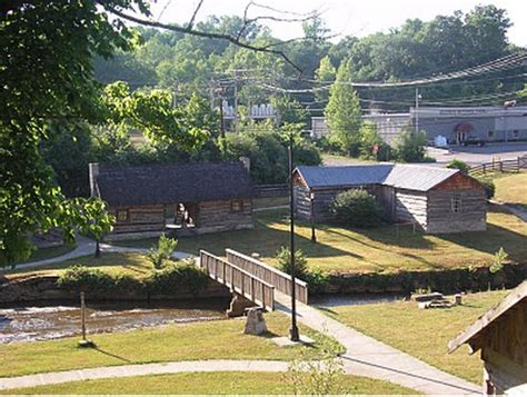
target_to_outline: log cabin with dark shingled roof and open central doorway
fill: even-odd
[[[100,167],[90,191],[116,217],[106,240],[250,229],[253,186],[241,162]]]

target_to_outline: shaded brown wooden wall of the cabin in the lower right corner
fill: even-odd
[[[491,324],[481,338],[485,380],[496,394],[527,384],[527,299]]]

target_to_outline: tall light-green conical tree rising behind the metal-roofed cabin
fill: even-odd
[[[338,68],[337,78],[329,90],[325,116],[330,140],[342,151],[357,156],[362,115],[357,91],[349,85],[351,81],[351,64],[347,60]]]

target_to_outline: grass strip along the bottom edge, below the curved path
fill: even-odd
[[[417,391],[384,380],[346,375],[340,388],[347,394],[402,395]],[[292,394],[285,374],[274,373],[185,373],[138,376],[120,379],[98,379],[39,386],[6,394],[120,394],[120,395],[281,395]]]

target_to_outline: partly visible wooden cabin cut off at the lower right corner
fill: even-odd
[[[448,344],[453,353],[468,344],[481,351],[483,394],[527,395],[527,281]]]

